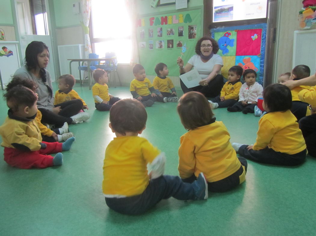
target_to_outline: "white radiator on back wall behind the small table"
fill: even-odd
[[[84,44],[58,46],[60,74],[69,74],[69,60],[84,58]],[[81,64],[80,64],[81,65]],[[79,80],[78,62],[71,63],[71,74]],[[82,74],[83,75],[83,74]]]

